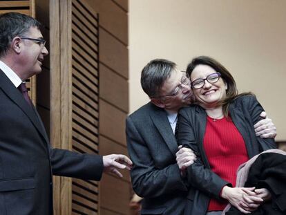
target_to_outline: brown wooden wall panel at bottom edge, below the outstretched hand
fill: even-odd
[[[130,184],[116,176],[104,174],[100,182],[100,206],[117,214],[129,213]]]

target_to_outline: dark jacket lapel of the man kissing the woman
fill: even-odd
[[[155,127],[158,129],[159,133],[162,135],[162,138],[166,142],[166,145],[173,153],[173,156],[175,156],[175,153],[178,151],[178,144],[175,140],[175,135],[173,134],[166,111],[164,111],[164,109],[154,107],[154,111],[150,111],[150,116]]]

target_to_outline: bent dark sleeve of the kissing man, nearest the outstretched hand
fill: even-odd
[[[155,167],[150,149],[130,117],[126,119],[126,139],[128,153],[133,161],[131,180],[136,194],[154,198],[173,191],[187,191],[175,162],[162,169]]]

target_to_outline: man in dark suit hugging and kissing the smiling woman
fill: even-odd
[[[191,149],[178,151],[174,135],[178,110],[191,104],[189,77],[178,71],[175,63],[155,59],[143,68],[141,85],[151,102],[126,119],[133,189],[144,198],[142,214],[180,215],[190,187],[184,180],[184,169],[196,159]],[[268,118],[256,127],[265,138],[276,135],[276,128]],[[180,168],[176,153],[180,155],[177,160]]]

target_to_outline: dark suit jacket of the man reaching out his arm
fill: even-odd
[[[52,174],[99,180],[101,156],[51,149],[37,111],[0,70],[0,214],[53,214]]]

